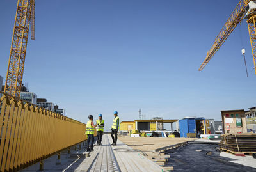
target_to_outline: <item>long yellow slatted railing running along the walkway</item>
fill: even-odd
[[[1,93],[0,171],[19,171],[86,140],[86,124]]]

